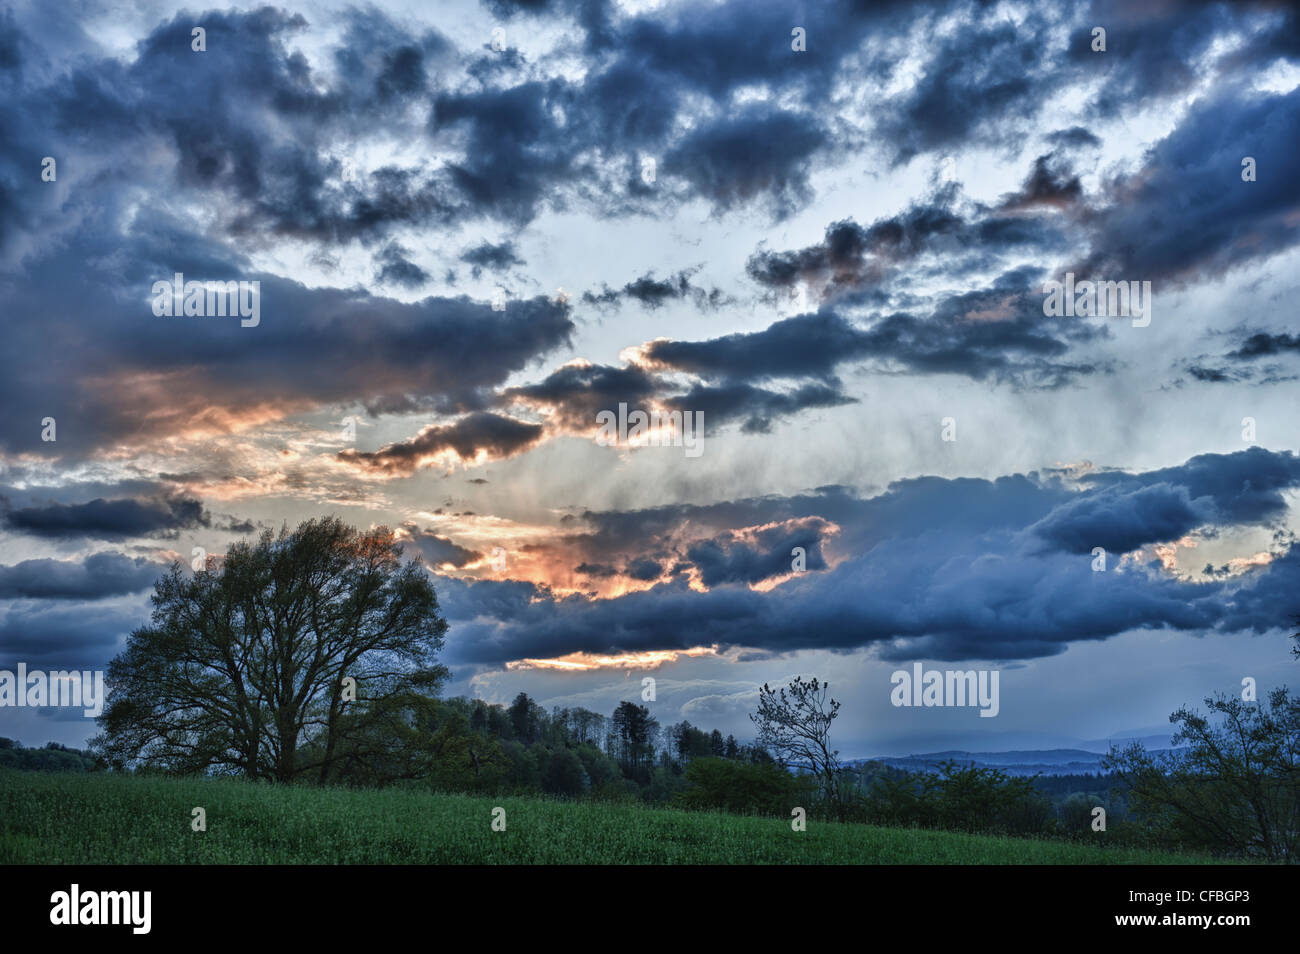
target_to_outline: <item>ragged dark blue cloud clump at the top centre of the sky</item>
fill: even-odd
[[[966,12],[962,4],[942,3],[828,3],[792,16],[777,4],[733,0],[615,19],[604,4],[538,4],[528,12],[554,12],[586,31],[585,51],[593,58],[582,82],[529,75],[506,86],[491,81],[491,70],[471,69],[484,86],[438,94],[430,130],[464,135],[464,159],[451,164],[450,173],[458,200],[474,214],[525,221],[569,190],[610,209],[642,208],[628,200],[651,195],[666,200],[636,175],[610,179],[580,159],[602,149],[659,155],[666,185],[684,185],[679,198],[703,198],[715,213],[758,201],[781,217],[810,195],[814,164],[849,146],[819,121],[831,86],[846,70],[859,69],[846,61],[862,55],[868,36],[901,35],[916,18],[945,8]],[[809,52],[792,49],[796,21],[806,31]],[[497,65],[508,56],[490,53],[481,64]],[[902,58],[894,49],[864,69],[880,79]],[[983,79],[970,78],[978,92],[968,95],[998,101],[997,90],[980,88]],[[992,82],[1005,86],[1001,77]],[[731,96],[746,84],[780,90],[790,105],[737,110]],[[702,97],[712,104],[705,114],[696,108]],[[688,129],[676,142],[675,126]],[[592,187],[593,178],[598,187]]]

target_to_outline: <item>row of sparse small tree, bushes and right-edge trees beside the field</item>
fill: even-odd
[[[1300,633],[1292,638],[1300,656]],[[1123,806],[1123,838],[1296,862],[1300,698],[1279,688],[1264,701],[1217,695],[1205,706],[1206,714],[1183,707],[1170,716],[1178,727],[1171,749],[1149,753],[1134,742],[1102,759],[1114,782],[1108,801]],[[816,780],[826,815],[1009,834],[1100,833],[1092,820],[1105,805],[1071,798],[1053,806],[1036,777],[956,762],[937,773],[846,769],[829,743],[837,714],[824,684],[796,680],[780,690],[763,686],[753,716],[759,740]]]

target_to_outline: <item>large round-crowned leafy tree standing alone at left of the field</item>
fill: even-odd
[[[220,567],[173,564],[109,665],[96,746],[118,766],[322,784],[343,758],[391,762],[374,750],[447,675],[433,585],[400,558],[386,528],[325,517],[237,543]]]

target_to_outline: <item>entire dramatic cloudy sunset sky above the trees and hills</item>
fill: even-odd
[[[1294,684],[1297,143],[1286,3],[12,3],[0,668],[101,668],[166,563],[337,513],[494,702],[649,675],[745,737],[816,675],[867,755]],[[155,316],[177,272],[260,324]],[[1149,325],[1045,316],[1066,273]],[[702,452],[598,442],[620,403]],[[892,707],[916,662],[1000,715]]]

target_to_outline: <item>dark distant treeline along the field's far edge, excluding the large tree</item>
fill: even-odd
[[[338,742],[333,784],[641,801],[771,818],[789,818],[792,808],[802,807],[812,818],[841,816],[841,808],[827,805],[815,777],[783,767],[764,747],[686,720],[660,725],[647,707],[632,702],[606,716],[582,707],[547,711],[526,693],[508,706],[464,697],[429,699],[416,712],[408,708],[400,719],[367,727],[373,740],[361,733]],[[315,749],[304,746],[298,764],[318,762]],[[46,772],[108,767],[96,753],[57,742],[26,749],[6,738],[0,738],[0,766]],[[1113,820],[1124,814],[1123,797],[1104,793],[1109,780],[1101,775],[1026,779],[957,763],[939,772],[909,772],[866,762],[838,776],[844,819],[880,825],[1043,836],[1089,831],[1097,805]],[[295,781],[320,779],[304,768]],[[1056,797],[1048,786],[1058,790]]]

